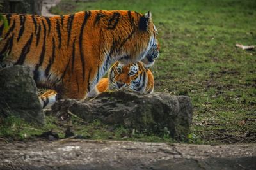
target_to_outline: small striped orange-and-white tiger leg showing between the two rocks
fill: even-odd
[[[56,102],[57,92],[55,90],[47,90],[44,94],[40,95],[39,101],[42,108],[51,108],[51,106]]]

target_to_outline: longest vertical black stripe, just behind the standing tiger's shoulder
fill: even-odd
[[[79,36],[79,50],[80,50],[80,59],[81,59],[81,63],[82,63],[82,69],[83,69],[83,81],[85,78],[85,72],[84,72],[84,53],[83,53],[83,32],[84,32],[84,26],[86,25],[86,22],[88,20],[88,18],[91,16],[91,12],[90,11],[85,11],[84,12],[84,21],[81,27],[81,31],[80,31],[80,36]]]

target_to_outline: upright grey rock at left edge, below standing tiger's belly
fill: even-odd
[[[28,122],[44,124],[44,113],[28,66],[0,70],[0,115],[15,115]]]

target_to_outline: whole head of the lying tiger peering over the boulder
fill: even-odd
[[[149,93],[154,89],[154,84],[148,88],[148,74],[142,62],[130,63],[127,65],[121,62],[115,62],[109,69],[108,80],[109,90],[113,89],[131,89],[136,92]],[[152,74],[150,72],[150,74]],[[151,77],[150,77],[151,78]],[[154,78],[153,78],[154,79]],[[151,80],[154,83],[154,80]]]

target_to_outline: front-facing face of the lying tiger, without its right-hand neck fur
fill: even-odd
[[[136,90],[136,88],[140,87],[141,81],[145,81],[145,78],[141,78],[141,74],[145,72],[146,70],[141,62],[127,65],[116,62],[109,71],[109,87],[111,90]]]

